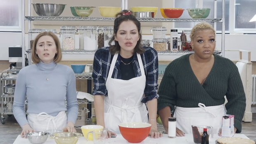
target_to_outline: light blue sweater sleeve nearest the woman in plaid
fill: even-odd
[[[67,102],[67,115],[68,122],[76,123],[76,118],[78,116],[78,103],[76,98],[76,78],[73,70],[70,68],[68,70],[68,85],[66,89],[66,102]]]

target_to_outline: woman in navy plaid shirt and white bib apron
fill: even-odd
[[[116,14],[110,47],[95,52],[95,114],[97,125],[107,128],[109,137],[119,134],[118,125],[126,122],[150,123],[149,135],[162,136],[156,126],[157,52],[152,47],[140,47],[141,38],[140,22],[132,12],[123,10]]]

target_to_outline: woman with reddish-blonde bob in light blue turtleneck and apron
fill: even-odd
[[[22,127],[21,137],[27,132],[53,129],[76,132],[76,79],[69,66],[57,64],[61,59],[58,37],[52,32],[40,33],[32,47],[35,64],[22,68],[16,81],[13,114]]]

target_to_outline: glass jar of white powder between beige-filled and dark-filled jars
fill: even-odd
[[[83,31],[83,50],[97,50],[97,27],[85,26]]]

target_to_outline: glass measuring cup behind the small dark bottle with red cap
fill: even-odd
[[[204,128],[207,128],[207,134],[213,138],[213,127],[206,125],[192,125],[192,134],[194,143],[201,144],[202,134],[204,132]]]

